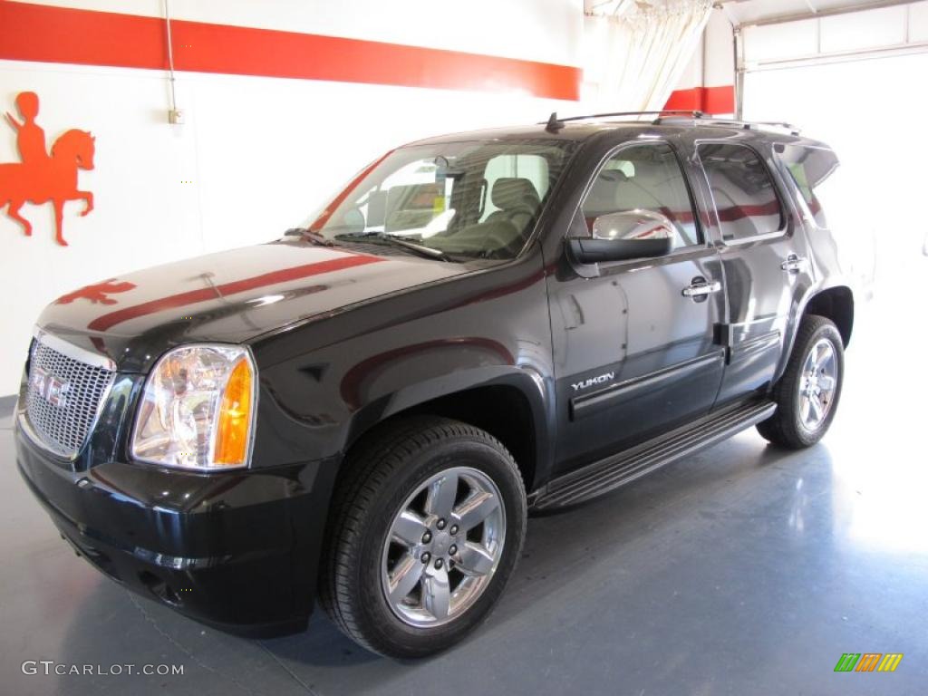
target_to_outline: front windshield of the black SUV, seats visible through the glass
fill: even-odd
[[[572,146],[520,139],[399,148],[355,176],[309,228],[334,242],[399,239],[436,258],[510,259]]]

